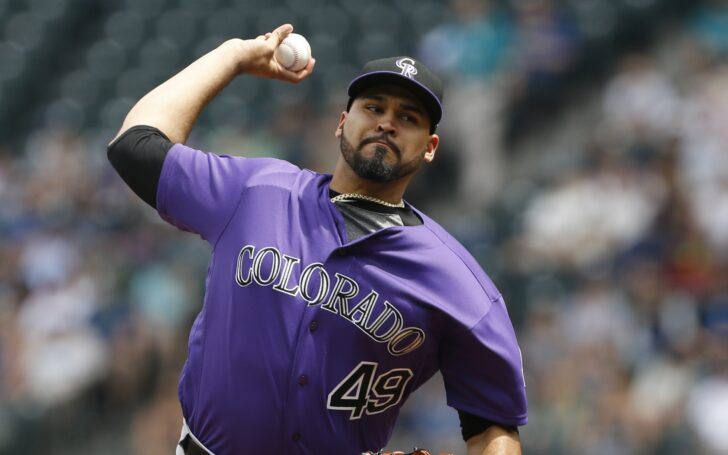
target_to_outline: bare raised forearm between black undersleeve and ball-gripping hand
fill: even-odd
[[[142,97],[129,111],[121,130],[135,125],[158,128],[175,143],[184,143],[202,109],[239,73],[241,40],[229,40]]]

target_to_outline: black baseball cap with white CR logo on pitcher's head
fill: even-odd
[[[442,118],[442,81],[422,62],[412,57],[391,57],[372,60],[364,65],[349,83],[349,104],[363,91],[383,84],[401,85],[422,101],[435,131]]]

